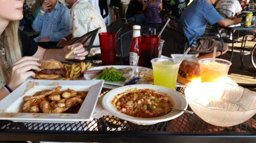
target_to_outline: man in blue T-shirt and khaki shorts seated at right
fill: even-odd
[[[212,38],[195,39],[194,36],[204,35],[207,23],[210,25],[218,23],[221,26],[229,26],[240,23],[242,18],[232,17],[227,19],[222,17],[212,6],[213,3],[215,3],[215,0],[193,0],[193,2],[183,11],[183,14],[181,14],[180,22],[183,25],[184,33],[189,40],[191,50],[207,51],[217,47],[216,57],[218,57],[221,55],[221,41],[216,41]],[[194,36],[189,34],[184,27],[186,27]],[[223,43],[222,54],[226,53],[227,50],[227,43]],[[198,59],[212,58],[212,56],[213,52],[201,53],[198,56]]]

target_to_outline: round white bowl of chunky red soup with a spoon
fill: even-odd
[[[118,87],[106,93],[102,99],[102,106],[111,115],[120,119],[140,125],[151,125],[177,118],[183,111],[169,107],[185,110],[188,103],[183,95],[170,88],[134,84]]]

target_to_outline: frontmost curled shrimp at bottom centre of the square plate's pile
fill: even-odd
[[[43,113],[62,113],[66,111],[68,108],[65,107],[63,103],[58,103],[53,101],[54,103],[49,103],[48,101],[44,100],[41,101],[39,107]]]

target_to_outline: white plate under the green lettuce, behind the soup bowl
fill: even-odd
[[[147,67],[140,66],[127,66],[127,65],[108,65],[108,66],[100,66],[100,67],[92,67],[86,71],[84,71],[84,79],[91,80],[96,79],[96,76],[102,73],[103,69],[115,68],[118,71],[122,72],[122,77],[124,81],[104,81],[103,87],[105,88],[116,88],[120,86],[124,86],[128,81],[134,79],[136,77],[140,78],[136,84],[153,84],[153,72],[152,69]],[[90,71],[94,71],[91,73]]]

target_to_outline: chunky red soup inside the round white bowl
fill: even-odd
[[[116,95],[112,104],[119,112],[139,118],[154,118],[166,115],[172,110],[169,107],[174,107],[172,97],[151,89],[127,90]]]

